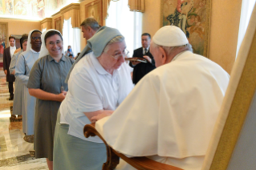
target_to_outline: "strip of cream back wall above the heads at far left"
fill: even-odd
[[[26,20],[18,20],[18,19],[10,19],[10,18],[1,18],[1,22],[8,22],[8,34],[28,34],[30,30],[41,30],[41,23],[26,21]],[[8,36],[9,36],[8,35]]]

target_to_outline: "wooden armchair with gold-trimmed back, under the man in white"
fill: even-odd
[[[221,105],[201,170],[256,169],[256,8],[250,18],[238,59],[230,75],[230,84]],[[84,127],[84,135],[103,137],[95,124]],[[137,169],[177,170],[146,157],[128,158],[108,146],[108,160],[103,169],[113,169],[119,157]]]

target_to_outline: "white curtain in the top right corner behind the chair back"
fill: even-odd
[[[241,16],[240,16],[240,25],[238,32],[238,46],[237,46],[237,56],[240,49],[242,40],[246,34],[246,29],[250,21],[250,15],[254,9],[256,0],[242,0]]]

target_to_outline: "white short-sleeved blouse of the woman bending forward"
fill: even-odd
[[[116,110],[132,91],[133,84],[127,64],[123,63],[111,75],[91,52],[75,65],[68,80],[68,88],[60,106],[60,123],[69,124],[68,134],[71,136],[102,143],[97,136],[83,136],[83,127],[91,123],[83,112]]]

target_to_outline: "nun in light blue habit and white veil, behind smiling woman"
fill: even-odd
[[[15,68],[15,77],[23,86],[23,107],[22,130],[26,134],[24,140],[33,143],[34,141],[34,118],[35,118],[35,97],[31,96],[26,87],[30,71],[37,59],[41,49],[41,31],[31,30],[28,35],[26,51],[18,56]]]

